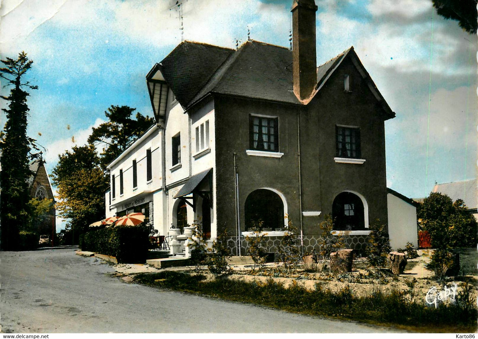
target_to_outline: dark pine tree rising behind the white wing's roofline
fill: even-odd
[[[109,121],[102,123],[88,137],[92,144],[104,146],[101,153],[101,165],[103,169],[120,155],[135,138],[139,137],[153,123],[154,119],[136,113],[136,120],[131,116],[136,109],[128,106],[114,106],[105,111]]]

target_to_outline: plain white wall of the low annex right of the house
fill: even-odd
[[[409,202],[387,193],[388,228],[393,250],[404,249],[407,242],[418,246],[416,207]]]

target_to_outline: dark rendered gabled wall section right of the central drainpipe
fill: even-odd
[[[350,77],[351,92],[344,91]],[[334,72],[308,105],[301,120],[304,210],[317,208],[321,216],[304,217],[304,234],[317,234],[317,224],[332,214],[332,202],[343,191],[361,194],[369,207],[369,223],[387,222],[385,131],[382,109],[350,58]],[[336,163],[336,125],[360,128],[364,164]],[[314,141],[314,142],[311,142]],[[317,154],[318,153],[318,154]],[[312,156],[309,156],[311,154]],[[319,180],[320,194],[306,183]],[[321,202],[321,203],[320,203]]]

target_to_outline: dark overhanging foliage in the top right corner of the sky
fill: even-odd
[[[436,12],[445,19],[458,21],[458,25],[470,34],[477,33],[476,0],[432,0]]]

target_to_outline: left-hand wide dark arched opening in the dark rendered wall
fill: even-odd
[[[284,204],[282,198],[269,189],[257,189],[249,194],[244,206],[246,230],[251,230],[262,221],[263,230],[282,230],[284,227]]]

